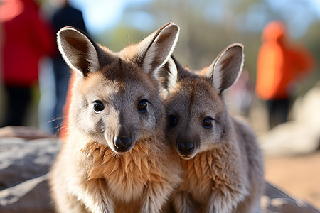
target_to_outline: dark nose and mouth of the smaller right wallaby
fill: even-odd
[[[197,140],[192,140],[189,136],[178,137],[176,141],[176,149],[183,159],[191,159],[198,151]]]

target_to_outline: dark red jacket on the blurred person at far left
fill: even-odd
[[[41,19],[32,0],[4,1],[0,14],[4,84],[30,87],[38,81],[39,59],[55,53],[53,28]]]

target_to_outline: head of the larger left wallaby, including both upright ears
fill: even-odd
[[[142,42],[119,53],[97,45],[72,27],[58,32],[58,47],[77,75],[69,110],[69,129],[109,146],[130,151],[164,123],[159,98],[159,70],[178,39],[179,28],[167,23]]]

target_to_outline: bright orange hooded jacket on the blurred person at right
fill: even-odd
[[[287,44],[284,25],[269,23],[262,33],[257,57],[256,93],[264,100],[288,99],[292,82],[314,67],[314,58],[306,48]]]

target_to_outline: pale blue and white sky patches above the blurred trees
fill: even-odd
[[[107,28],[116,26],[122,18],[122,13],[130,4],[147,4],[153,0],[69,0],[70,4],[80,9],[85,18],[88,31],[92,34],[99,34]],[[302,10],[303,6],[309,6],[314,10],[316,18],[320,20],[320,0],[266,0],[274,11],[287,11],[287,19],[289,19],[289,33],[299,38],[308,30],[309,25],[314,21],[314,16],[309,16],[306,10]],[[216,3],[221,3],[217,1]],[[257,27],[257,23],[262,21],[259,4],[252,5],[250,8],[252,13],[247,16],[247,25],[253,29]],[[140,18],[144,18],[144,23],[148,17],[147,14],[141,14]],[[218,18],[218,17],[215,17]],[[261,22],[260,22],[261,23]],[[137,24],[139,26],[139,23]],[[140,25],[141,26],[141,25]],[[149,25],[141,26],[148,28]],[[153,27],[153,26],[151,26]],[[259,31],[260,28],[257,28]]]

